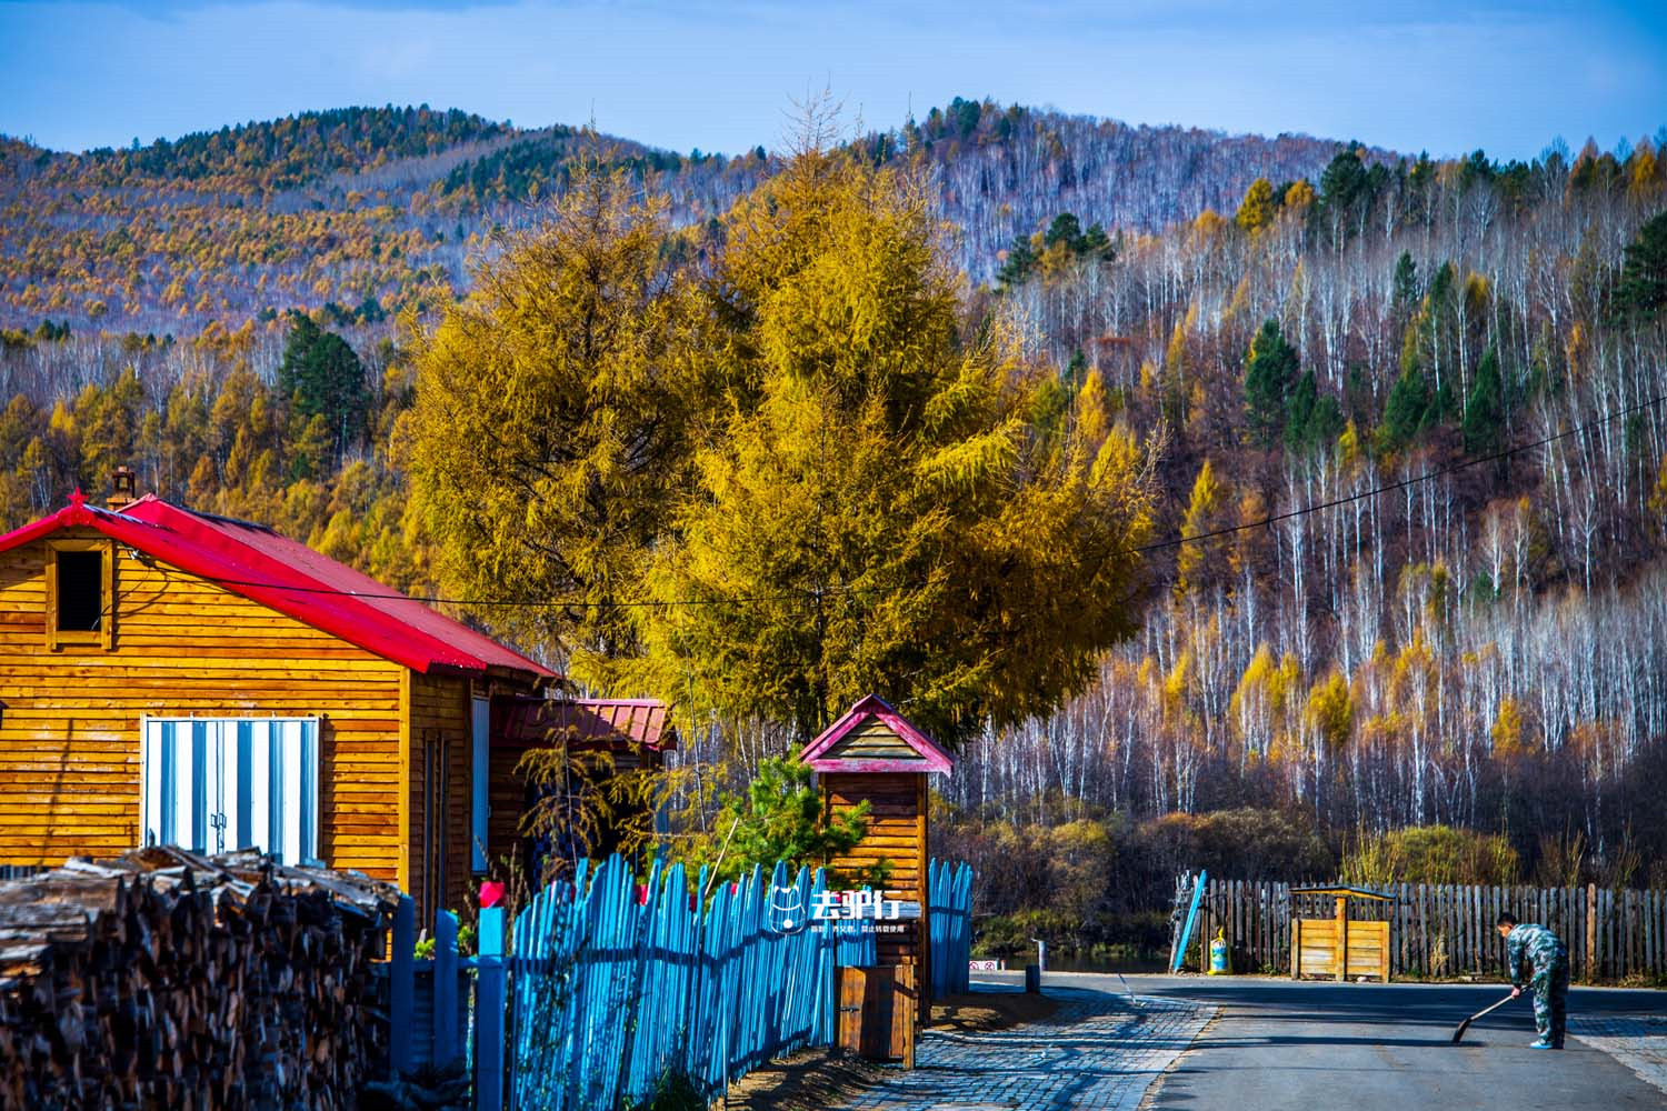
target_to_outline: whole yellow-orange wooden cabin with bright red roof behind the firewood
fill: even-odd
[[[0,536],[0,866],[145,843],[485,871],[490,700],[555,675],[270,528],[153,496]]]

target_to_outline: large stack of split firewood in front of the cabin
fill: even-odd
[[[398,889],[147,848],[0,883],[0,1109],[352,1108]]]

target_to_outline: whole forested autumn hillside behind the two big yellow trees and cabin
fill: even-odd
[[[1032,368],[1025,408],[987,413],[1012,466],[1042,473],[1077,436],[1127,443],[1149,498],[1102,506],[1129,515],[1127,548],[1090,561],[1099,533],[1059,533],[1127,593],[1080,675],[960,730],[957,851],[1040,861],[1027,881],[1045,886],[1112,853],[1117,821],[1170,823],[1202,859],[1207,815],[1234,815],[1295,831],[1275,871],[1354,846],[1367,876],[1372,838],[1449,826],[1497,834],[1520,878],[1667,883],[1659,142],[1429,158],[965,100],[845,142],[852,165],[930,192],[950,346],[995,330]],[[80,155],[5,140],[0,523],[130,463],[163,496],[458,596],[410,476],[432,330],[475,267],[602,172],[663,198],[632,265],[697,290],[728,275],[753,208],[777,212],[790,163],[428,108]],[[573,650],[555,626],[472,616],[557,661]],[[795,731],[767,718],[692,751],[752,768]]]

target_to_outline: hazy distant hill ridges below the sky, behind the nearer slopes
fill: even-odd
[[[1060,212],[1157,232],[1235,205],[1257,177],[1317,177],[1337,148],[962,100],[862,143],[937,168],[960,263],[980,280]],[[313,112],[82,155],[5,142],[0,326],[192,335],[332,303],[340,323],[430,310],[467,283],[492,228],[563,188],[585,150],[652,177],[678,223],[725,210],[772,167],[763,148],[677,155],[428,108]]]

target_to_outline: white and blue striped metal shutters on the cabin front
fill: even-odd
[[[145,718],[142,844],[318,856],[317,718]]]

